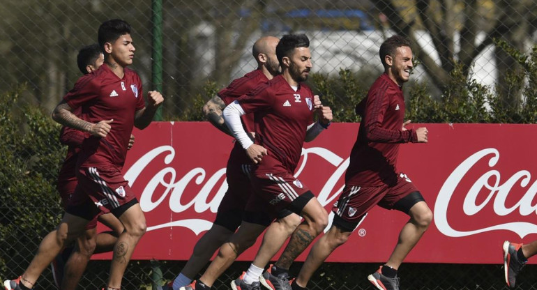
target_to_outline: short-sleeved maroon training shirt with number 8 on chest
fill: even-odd
[[[73,90],[63,97],[73,109],[82,107],[84,119],[91,123],[114,119],[107,137],[85,133],[78,165],[121,169],[127,155],[135,112],[145,107],[142,82],[133,70],[125,68],[123,78],[103,64],[95,73],[78,79]]]

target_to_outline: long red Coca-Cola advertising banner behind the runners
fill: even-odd
[[[422,126],[429,142],[402,144],[398,169],[420,189],[434,221],[405,261],[500,264],[505,240],[537,239],[535,125],[414,124]],[[333,123],[303,146],[295,176],[328,213],[344,185],[357,132],[358,123]],[[133,134],[124,174],[147,221],[133,259],[188,259],[227,190],[233,139],[208,122],[153,122]],[[328,261],[386,261],[407,220],[404,213],[374,208]],[[260,241],[239,259],[253,259]]]

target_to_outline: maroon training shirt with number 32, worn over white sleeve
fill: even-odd
[[[313,93],[299,84],[294,91],[278,75],[237,99],[246,114],[255,112],[255,143],[267,149],[255,174],[294,173],[305,133],[313,122]]]

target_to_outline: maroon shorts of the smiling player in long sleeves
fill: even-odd
[[[373,206],[378,204],[386,209],[399,209],[395,208],[395,204],[413,192],[419,193],[418,188],[402,173],[398,174],[398,181],[393,187],[345,185],[332,211],[340,217],[338,220],[356,226]],[[421,194],[418,195],[421,197]]]

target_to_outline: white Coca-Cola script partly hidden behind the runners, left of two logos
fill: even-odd
[[[160,155],[165,156],[162,159],[163,164],[156,164],[157,157]],[[296,178],[308,167],[308,160],[313,155],[322,158],[324,162],[331,165],[330,168],[333,168],[332,174],[317,176],[317,178],[326,178],[326,182],[324,182],[321,190],[316,194],[317,199],[323,206],[328,206],[333,204],[343,188],[343,185],[338,186],[338,183],[342,183],[345,170],[349,165],[349,158],[342,158],[322,147],[303,148],[301,162],[295,174]],[[207,171],[203,167],[194,167],[186,174],[179,176],[176,168],[174,168],[175,157],[176,151],[172,146],[158,146],[142,155],[126,171],[124,176],[129,181],[129,185],[131,187],[136,186],[136,188],[142,188],[139,198],[142,211],[151,212],[167,201],[169,213],[182,213],[190,208],[193,208],[196,213],[204,213],[206,211],[216,213],[220,201],[222,201],[227,190],[227,182],[224,178],[225,168],[218,169],[214,174],[208,176]],[[148,167],[151,167],[151,170],[145,171]],[[154,173],[153,177],[145,185],[138,185],[137,179],[142,172],[147,174],[149,171],[151,171],[151,174],[153,174],[153,171],[157,172]],[[193,199],[185,200],[182,197],[188,185],[192,185],[192,183],[201,185],[202,188],[195,194]],[[336,186],[338,187],[336,188]],[[215,195],[210,199],[209,196],[211,193]],[[202,231],[210,229],[212,224],[212,220],[205,218],[183,218],[179,216],[176,220],[170,218],[169,221],[160,224],[151,225],[148,222],[149,227],[147,231],[167,227],[185,227],[195,234],[199,234]]]

